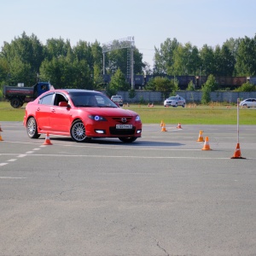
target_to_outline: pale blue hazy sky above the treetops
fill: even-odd
[[[42,44],[62,38],[73,46],[134,37],[153,67],[154,47],[167,38],[198,49],[254,38],[255,6],[255,0],[0,0],[0,47],[23,32]]]

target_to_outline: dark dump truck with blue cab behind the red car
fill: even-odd
[[[3,96],[13,108],[20,108],[25,102],[32,102],[39,95],[50,90],[47,82],[39,82],[31,87],[3,85]]]

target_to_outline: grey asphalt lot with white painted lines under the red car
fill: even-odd
[[[1,122],[0,255],[256,255],[256,126],[181,126],[43,145]]]

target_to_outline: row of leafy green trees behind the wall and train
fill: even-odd
[[[254,38],[230,38],[222,46],[203,45],[198,49],[176,38],[166,38],[160,48],[154,48],[154,67],[143,62],[143,54],[134,48],[135,74],[255,76],[256,35]],[[75,46],[63,38],[50,38],[42,44],[34,34],[23,32],[11,43],[3,42],[0,52],[0,85],[26,86],[36,81],[50,81],[55,88],[89,90],[130,90],[125,82],[127,49],[117,49],[105,55],[105,73],[112,80],[105,84],[102,45],[80,40]],[[173,86],[176,86],[174,84]],[[160,88],[165,87],[161,84]],[[148,87],[150,88],[150,87]]]

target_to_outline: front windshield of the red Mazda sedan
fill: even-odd
[[[75,107],[118,108],[108,96],[90,91],[70,91],[69,95]]]

